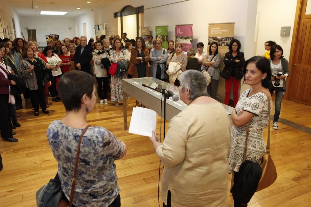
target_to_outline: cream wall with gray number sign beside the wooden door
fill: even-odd
[[[266,51],[264,43],[272,40],[283,48],[283,55],[288,60],[293,37],[296,0],[260,0],[257,12],[259,13],[258,38],[256,55],[263,55]],[[290,26],[290,36],[281,37],[282,26]]]

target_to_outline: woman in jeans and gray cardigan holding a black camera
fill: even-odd
[[[278,129],[277,121],[281,113],[281,101],[286,91],[286,77],[289,76],[288,61],[283,57],[283,48],[280,45],[273,45],[270,51],[270,67],[272,71],[271,95],[275,91],[275,111],[273,116],[273,129]]]

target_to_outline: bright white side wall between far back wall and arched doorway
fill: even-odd
[[[81,16],[76,17],[75,19],[77,24],[77,32],[78,37],[85,35],[83,34],[83,23],[86,23],[86,38],[89,40],[91,37],[95,39],[95,18],[94,18],[94,11],[89,11],[84,13]],[[100,24],[100,23],[99,23]]]

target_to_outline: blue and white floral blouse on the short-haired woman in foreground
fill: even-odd
[[[62,190],[70,198],[77,148],[83,129],[71,128],[53,121],[47,138],[58,162],[58,176]],[[113,133],[103,127],[89,127],[81,142],[77,184],[73,204],[75,206],[105,207],[118,196],[118,178],[114,160],[122,157],[123,145]]]

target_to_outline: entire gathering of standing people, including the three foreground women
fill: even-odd
[[[168,48],[163,48],[160,38],[153,41],[153,37],[150,36],[145,42],[141,37],[135,40],[128,39],[126,33],[122,34],[122,38],[118,35],[108,39],[105,35],[97,36],[95,40],[90,38],[88,43],[86,36],[75,37],[72,40],[65,38],[62,42],[53,37],[47,40],[47,46],[41,52],[35,41],[26,42],[21,38],[13,41],[5,39],[0,43],[0,106],[3,112],[0,116],[0,130],[2,138],[8,142],[18,141],[13,137],[15,133],[12,129],[21,127],[16,118],[16,110],[23,108],[21,94],[24,94],[25,101],[30,99],[35,116],[39,115],[39,106],[44,114],[49,114],[47,110],[50,107],[49,95],[52,101],[62,101],[66,108],[66,116],[49,126],[47,136],[51,141],[53,154],[61,165],[58,175],[63,182],[67,180],[69,182],[71,173],[68,173],[67,169],[72,169],[73,166],[66,161],[67,158],[64,156],[67,155],[53,145],[55,142],[65,142],[59,135],[59,140],[58,138],[55,140],[55,134],[66,129],[67,131],[63,133],[69,132],[72,135],[79,133],[81,128],[87,126],[86,115],[91,113],[95,105],[95,88],[97,87],[100,97],[100,105],[109,104],[107,93],[110,88],[111,102],[119,107],[119,102],[123,100],[122,79],[151,76],[162,81],[169,80],[179,87],[180,98],[187,108],[170,121],[167,137],[163,143],[159,142],[155,132],[150,137],[152,147],[165,167],[161,186],[162,199],[167,205],[169,204],[168,206],[171,203],[175,206],[183,206],[185,203],[193,206],[201,206],[202,203],[204,205],[224,204],[227,199],[226,173],[234,173],[234,184],[236,184],[240,176],[239,168],[244,161],[241,156],[244,146],[248,146],[246,156],[253,162],[258,162],[259,156],[266,151],[263,129],[268,123],[268,101],[270,100],[272,105],[273,92],[276,93],[273,128],[278,129],[281,99],[286,91],[286,77],[289,75],[288,61],[283,57],[282,47],[273,41],[265,43],[268,54],[266,52],[263,57],[255,56],[245,61],[244,53],[240,51],[240,41],[232,39],[228,47],[229,52],[225,53],[222,60],[225,67],[221,71],[222,58],[218,52],[218,43],[210,43],[208,51],[204,52],[204,44],[199,42],[197,50],[190,48],[187,54],[183,52],[182,43],[174,45],[173,40],[169,40],[168,43]],[[111,74],[109,69],[114,67],[114,64],[120,67],[120,71]],[[90,65],[94,66],[92,75],[96,77],[96,83],[91,77]],[[174,67],[180,65],[178,71],[175,71],[175,73],[180,73],[178,78],[171,79],[170,73],[166,72],[171,70],[172,65]],[[201,73],[204,70],[211,77],[210,84],[206,83]],[[233,87],[235,109],[231,113],[233,123],[231,131],[227,115],[223,113],[222,106],[216,101],[220,77],[225,79],[224,103],[226,105],[229,105],[231,87]],[[245,90],[239,97],[239,86],[243,78],[244,83],[252,88]],[[67,88],[71,88],[70,94]],[[79,91],[80,89],[83,94]],[[73,103],[75,98],[78,98],[77,103]],[[136,106],[144,107],[138,102]],[[193,119],[187,118],[193,114],[196,114]],[[218,117],[218,115],[221,116]],[[206,128],[204,127],[206,117],[218,117],[218,119],[209,120],[211,127]],[[72,124],[72,120],[81,122],[76,121]],[[193,128],[194,123],[197,129]],[[248,143],[240,142],[247,133],[248,123],[251,128]],[[220,132],[222,139],[216,143],[215,140],[219,138]],[[80,184],[77,187],[79,193],[75,196],[74,203],[83,206],[85,203],[101,205],[103,202],[108,202],[114,204],[113,206],[120,206],[120,189],[117,185],[113,160],[126,155],[126,145],[104,128],[90,128],[87,137],[93,139],[94,134],[99,134],[98,137],[106,134],[104,137],[109,138],[109,143],[106,144],[110,145],[111,149],[108,150],[101,145],[97,146],[98,149],[92,147],[91,150],[99,151],[104,148],[106,151],[104,155],[95,153],[96,156],[92,158],[85,154],[84,158],[98,162],[108,155],[113,159],[109,161],[104,170],[99,166],[86,167],[89,174],[84,175],[83,179],[85,185],[88,185],[91,172],[100,176],[100,172],[103,171],[109,174],[109,179],[103,178],[104,182],[96,182],[100,186],[108,186],[109,189],[94,187],[94,196],[101,196],[101,198],[92,199],[83,193],[84,189]],[[202,139],[204,135],[209,139]],[[104,137],[101,138],[104,139]],[[196,141],[193,142],[194,140]],[[258,144],[253,146],[252,142]],[[206,145],[213,143],[216,158],[215,153],[210,154],[208,148],[205,149],[207,151],[202,151],[202,143]],[[72,151],[75,151],[76,142],[67,144],[72,147]],[[72,153],[70,151],[68,153],[70,157]],[[212,161],[206,163],[206,160]],[[183,175],[176,174],[177,171],[182,172]],[[202,172],[205,173],[202,174]],[[210,173],[215,174],[213,180],[202,182]],[[184,176],[196,179],[188,183],[185,182]],[[189,188],[193,184],[199,187]],[[62,184],[62,189],[68,198],[70,188]],[[200,193],[193,195],[193,191]],[[109,195],[104,195],[104,193],[109,193]],[[192,199],[189,199],[189,195]],[[211,200],[210,196],[214,198]],[[247,206],[247,202],[234,197],[235,206]]]

